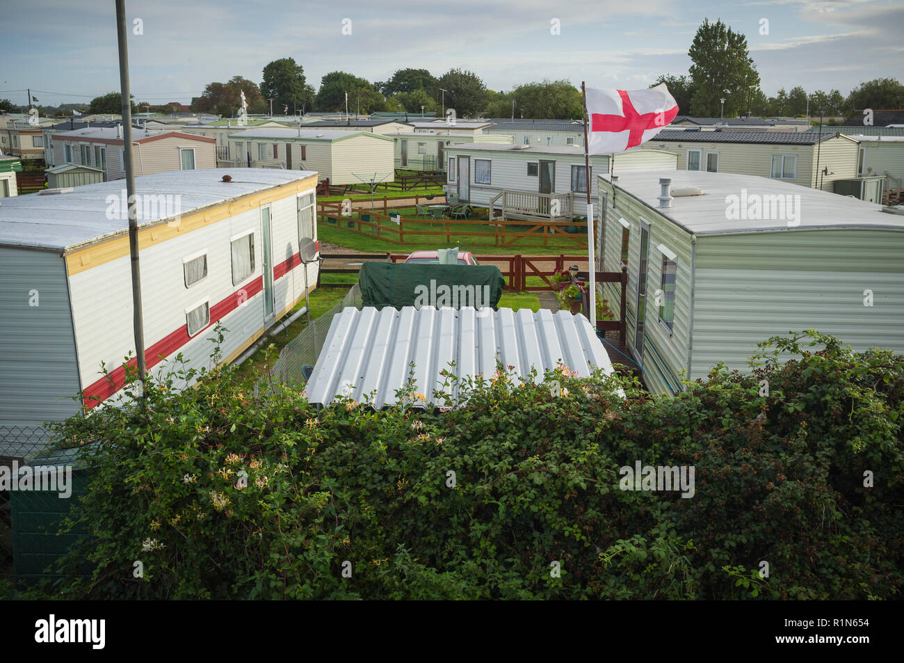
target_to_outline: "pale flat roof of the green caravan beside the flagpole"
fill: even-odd
[[[735,175],[733,173],[708,173],[686,170],[648,170],[618,173],[616,160],[615,183],[618,192],[626,192],[655,208],[656,213],[672,219],[688,232],[697,235],[727,234],[731,232],[800,231],[823,228],[884,228],[904,230],[904,217],[882,213],[879,204],[866,203],[828,191],[811,189],[769,177]],[[609,180],[610,175],[599,175]],[[660,209],[660,177],[672,179],[672,190],[682,187],[698,187],[702,195],[674,196],[672,207]],[[734,209],[749,210],[754,196],[782,195],[786,216],[780,219],[733,218]],[[736,196],[737,201],[730,196]],[[762,203],[762,198],[758,198]],[[762,206],[760,216],[771,214],[771,199]],[[765,213],[769,209],[769,214]],[[793,213],[790,211],[793,210]],[[799,216],[795,216],[799,213]],[[737,215],[740,216],[740,213]],[[749,216],[749,214],[744,214]],[[798,223],[789,225],[790,223]]]

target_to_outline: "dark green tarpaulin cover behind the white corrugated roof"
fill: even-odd
[[[365,262],[358,276],[363,305],[375,308],[495,308],[504,285],[493,265]]]

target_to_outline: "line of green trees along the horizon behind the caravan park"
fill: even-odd
[[[810,117],[833,118],[866,108],[904,108],[904,85],[893,78],[864,81],[846,97],[839,90],[807,92],[799,85],[788,91],[782,88],[769,97],[761,89],[747,38],[721,21],[704,20],[688,55],[692,64],[686,74],[664,73],[654,82],[654,85],[664,82],[668,86],[682,115],[803,117],[809,111]],[[234,117],[244,92],[251,114],[268,113],[271,108],[278,115],[312,110],[338,112],[346,109],[347,94],[350,113],[389,111],[419,115],[456,109],[459,118],[582,117],[580,90],[566,80],[532,81],[504,91],[489,90],[480,76],[464,69],[450,69],[440,76],[426,69],[400,69],[388,81],[367,81],[347,71],[331,71],[320,79],[315,90],[307,80],[304,67],[294,58],[268,62],[262,79],[258,84],[233,76],[224,83],[208,83],[201,96],[192,99],[191,108],[194,112]],[[119,99],[118,92],[110,92],[92,99],[82,112],[118,113]],[[67,109],[71,112],[71,108]],[[137,108],[171,110],[145,101],[133,103],[133,110]],[[0,109],[26,110],[9,99],[0,99]]]

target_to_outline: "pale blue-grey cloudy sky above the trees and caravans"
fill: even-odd
[[[24,104],[16,90],[31,88],[57,105],[119,89],[113,0],[3,5],[0,98]],[[406,67],[475,71],[491,90],[543,78],[644,88],[687,72],[704,18],[747,35],[769,95],[904,79],[904,0],[127,0],[126,9],[130,28],[134,19],[143,28],[128,40],[132,93],[152,103],[188,103],[234,75],[260,83],[267,62],[288,56],[315,88],[328,71],[384,81]]]

